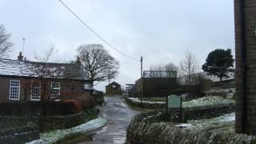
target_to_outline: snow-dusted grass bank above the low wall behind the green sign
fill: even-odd
[[[141,102],[139,98],[129,98],[133,102]],[[218,96],[203,97],[191,100],[189,102],[182,102],[182,107],[193,107],[193,106],[213,106],[218,104],[226,104],[234,102],[232,99],[226,99]],[[143,101],[143,103],[162,103],[166,102],[154,102],[154,101]]]

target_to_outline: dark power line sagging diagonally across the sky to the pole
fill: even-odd
[[[97,34],[92,28],[90,28],[90,26],[87,25],[86,22],[84,22],[81,18],[79,18],[78,15],[75,14],[74,11],[71,10],[69,6],[67,6],[64,2],[62,2],[62,0],[58,0],[58,2],[61,2],[62,5],[65,6],[66,9],[69,10],[70,13],[73,14],[75,18],[77,18],[77,19],[78,19],[80,22],[82,22],[82,24],[83,24],[84,26],[86,26],[93,34],[95,34],[98,38],[100,38],[103,42],[105,42],[106,45],[110,46],[110,48],[114,49],[114,50],[117,51],[119,54],[122,54],[122,55],[126,56],[127,58],[130,58],[130,59],[132,59],[132,60],[134,60],[134,61],[138,61],[136,58],[131,58],[129,55],[122,53],[122,51],[120,51],[120,50],[118,50],[117,48],[115,48],[114,46],[110,45],[109,42],[106,42],[105,39],[103,39],[103,38],[102,38],[99,34]]]

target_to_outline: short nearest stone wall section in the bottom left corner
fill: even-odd
[[[25,126],[16,126],[0,130],[0,144],[19,144],[40,138],[38,125],[28,122]]]

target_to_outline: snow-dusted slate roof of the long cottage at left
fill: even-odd
[[[76,63],[30,62],[0,58],[0,75],[18,77],[67,78],[87,80]]]

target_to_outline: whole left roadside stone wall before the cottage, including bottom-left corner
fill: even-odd
[[[39,138],[40,131],[68,129],[98,117],[98,110],[66,116],[0,116],[0,144],[24,143]]]

